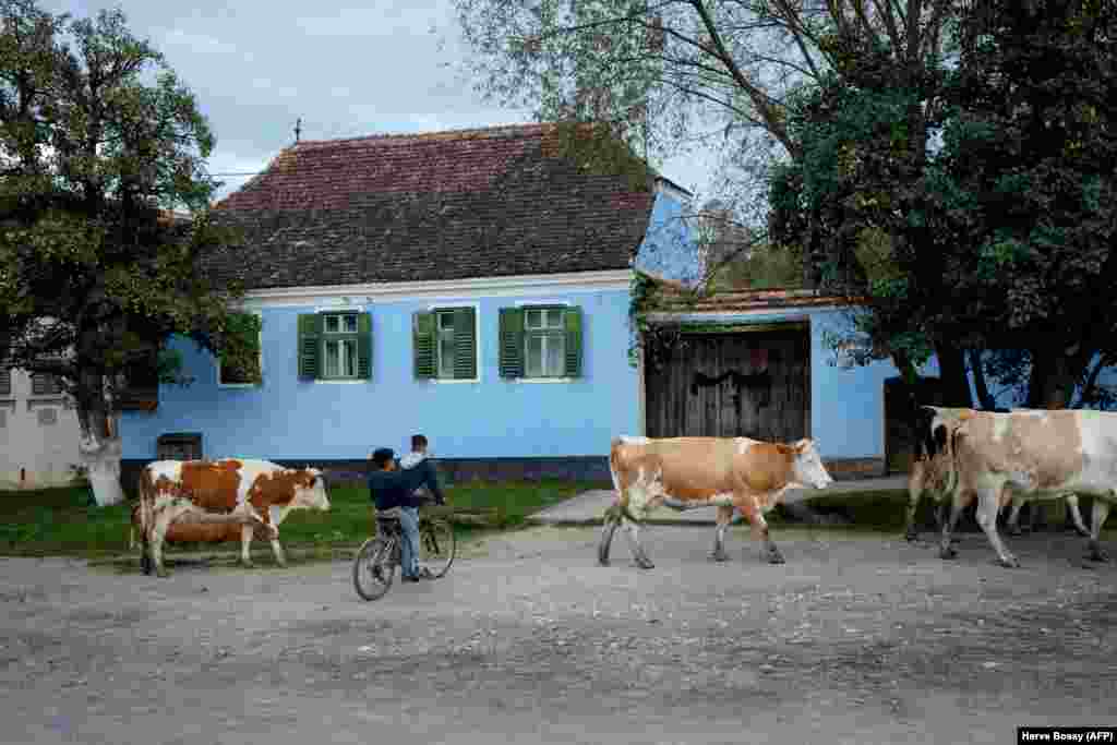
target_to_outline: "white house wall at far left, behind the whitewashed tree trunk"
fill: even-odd
[[[40,419],[41,417],[41,419]],[[77,414],[61,395],[32,395],[31,376],[11,371],[0,393],[0,489],[65,486],[78,459]]]

